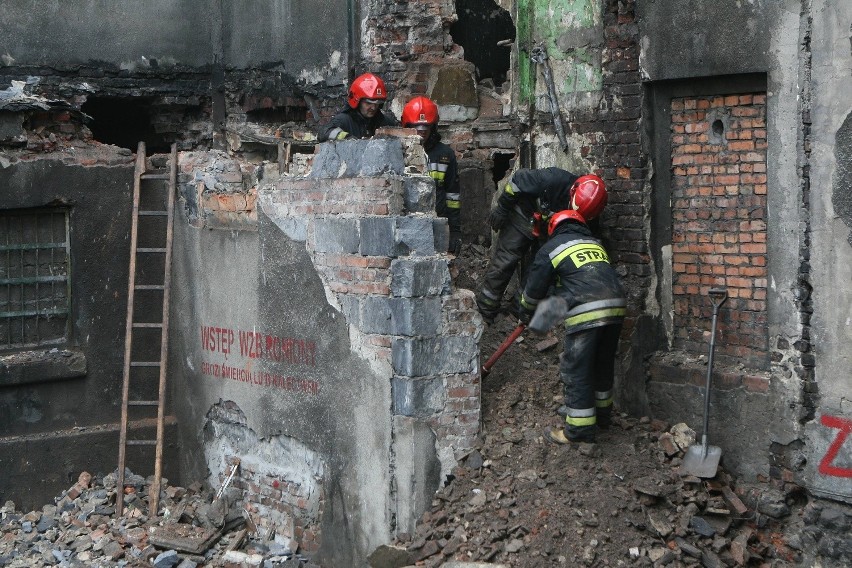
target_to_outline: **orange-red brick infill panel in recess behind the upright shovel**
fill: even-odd
[[[766,369],[766,95],[676,98],[671,117],[674,346],[706,350],[726,288],[717,353]]]

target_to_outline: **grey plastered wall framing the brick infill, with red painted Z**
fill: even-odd
[[[841,2],[818,2],[805,11],[792,1],[687,4],[637,6],[642,73],[651,95],[649,137],[656,163],[652,253],[661,305],[667,305],[671,286],[666,270],[671,258],[665,251],[671,237],[672,94],[743,92],[763,76],[772,363],[765,393],[745,386],[745,377],[745,388],[738,393],[719,385],[712,397],[710,437],[717,436],[727,452],[723,460],[736,471],[795,480],[816,493],[849,500],[844,346],[850,302],[844,296],[847,287],[837,284],[849,281],[850,219],[844,215],[849,217],[845,164],[850,160],[850,107],[841,93],[852,80],[852,9]],[[665,312],[661,315],[665,321]],[[656,377],[663,384],[651,383],[655,412],[697,423],[700,414],[697,409],[687,412],[692,403],[683,399],[700,397],[701,391],[684,390],[666,372],[671,369]]]

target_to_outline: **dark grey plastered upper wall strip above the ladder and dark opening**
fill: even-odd
[[[345,82],[346,0],[9,0],[0,5],[6,66],[126,71],[279,65]],[[73,23],[73,25],[69,25]],[[311,38],[305,49],[304,38]]]

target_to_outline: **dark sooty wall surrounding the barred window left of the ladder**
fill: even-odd
[[[0,210],[67,210],[71,243],[68,340],[0,354],[0,499],[19,507],[51,502],[80,471],[116,467],[131,160],[116,154],[89,166],[75,158],[7,161],[0,168]],[[134,470],[153,472],[152,452],[131,451],[128,460]],[[167,476],[177,471],[166,469]]]

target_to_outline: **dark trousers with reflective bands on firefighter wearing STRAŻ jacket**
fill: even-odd
[[[615,356],[622,323],[565,333],[559,365],[565,406],[565,436],[594,441],[598,427],[609,427]]]

